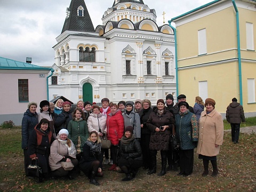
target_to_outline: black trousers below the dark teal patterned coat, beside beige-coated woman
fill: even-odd
[[[183,174],[193,173],[194,149],[180,150],[180,172]]]

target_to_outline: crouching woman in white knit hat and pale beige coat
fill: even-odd
[[[73,163],[73,170],[65,171],[61,162]],[[57,139],[53,141],[51,145],[51,154],[49,156],[49,165],[53,177],[67,176],[70,180],[74,179],[73,175],[77,172],[78,161],[76,159],[76,148],[74,143],[68,139],[68,130],[60,130]]]

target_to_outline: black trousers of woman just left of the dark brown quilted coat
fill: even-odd
[[[150,150],[149,150],[150,134],[142,134],[140,138],[140,145],[142,150],[143,166],[150,165]]]

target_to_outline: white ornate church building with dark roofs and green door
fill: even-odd
[[[174,31],[157,26],[154,9],[142,0],[116,0],[95,29],[84,0],[71,0],[66,12],[53,46],[50,100],[149,99],[155,105],[166,94],[177,97]]]

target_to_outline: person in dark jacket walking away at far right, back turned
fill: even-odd
[[[245,117],[244,108],[237,102],[236,98],[233,98],[232,102],[227,107],[226,118],[231,125],[232,142],[237,144],[239,139],[240,123],[241,121],[245,122]]]

